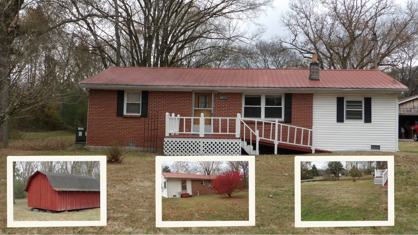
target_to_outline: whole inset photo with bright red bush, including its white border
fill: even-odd
[[[155,157],[155,227],[214,226],[255,226],[255,156]]]

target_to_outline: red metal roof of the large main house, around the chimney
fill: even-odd
[[[229,88],[387,88],[405,89],[380,70],[321,70],[319,81],[309,69],[293,68],[155,68],[110,67],[80,82],[125,86],[199,86]]]

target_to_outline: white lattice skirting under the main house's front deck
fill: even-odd
[[[164,138],[166,156],[240,156],[241,139]]]

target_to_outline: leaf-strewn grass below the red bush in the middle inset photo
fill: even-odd
[[[163,221],[249,220],[248,192],[228,195],[202,195],[163,198]]]

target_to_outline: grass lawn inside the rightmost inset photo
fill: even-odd
[[[373,183],[373,179],[303,182],[301,220],[387,220],[387,192]]]

